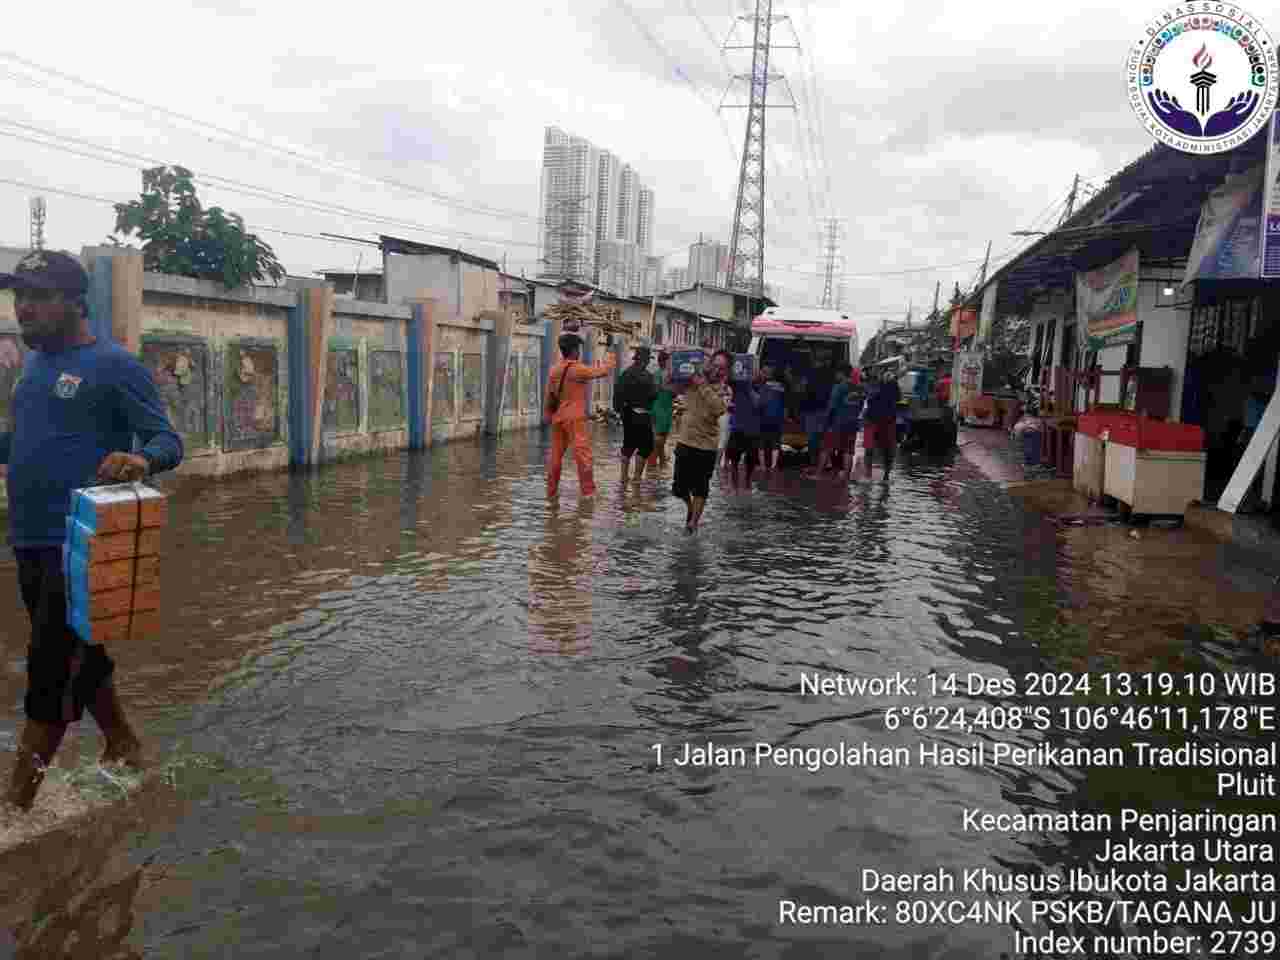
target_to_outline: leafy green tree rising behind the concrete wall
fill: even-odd
[[[205,210],[184,166],[142,172],[142,197],[115,205],[115,233],[137,234],[147,270],[221,280],[228,288],[255,280],[279,283],[275,251],[244,230],[244,220],[221,207]],[[116,237],[109,238],[116,246]]]

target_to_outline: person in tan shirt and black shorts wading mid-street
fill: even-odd
[[[728,357],[717,355],[695,374],[689,389],[676,398],[676,470],[671,492],[685,502],[685,530],[694,532],[703,518],[716,472],[719,419],[728,412],[732,392],[724,383]]]

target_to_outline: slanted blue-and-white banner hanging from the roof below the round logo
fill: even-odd
[[[1184,287],[1192,280],[1257,279],[1263,174],[1263,164],[1229,173],[1226,182],[1206,197],[1187,256]]]

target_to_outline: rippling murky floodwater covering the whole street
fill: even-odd
[[[1029,703],[970,695],[970,675],[1239,669],[1257,584],[1202,609],[1184,531],[1062,529],[963,453],[904,458],[888,484],[716,488],[690,538],[669,472],[620,489],[617,439],[596,435],[594,498],[566,463],[558,507],[536,431],[180,489],[164,634],[113,650],[156,772],[100,776],[88,721],[32,820],[0,826],[18,955],[993,960],[1014,929],[1050,927],[899,924],[895,901],[938,896],[865,893],[861,872],[1064,870],[1120,837],[966,831],[966,809],[1216,803],[1211,772],[672,764],[708,742],[1112,742],[891,731],[884,713]],[[1144,562],[1164,562],[1160,584]],[[0,595],[5,751],[15,593]],[[920,680],[828,698],[803,695],[801,672]],[[931,698],[931,673],[961,686]],[[887,923],[778,923],[781,900],[868,899]]]

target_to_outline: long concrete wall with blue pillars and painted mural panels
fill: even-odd
[[[456,280],[456,311],[430,287],[419,294],[439,301],[335,301],[319,280],[228,291],[145,274],[136,251],[86,248],[82,260],[91,328],[137,352],[183,436],[179,476],[314,466],[541,422],[545,329],[512,330],[506,315],[481,308],[497,305],[493,270],[462,264],[438,274]],[[403,260],[419,261],[406,271],[415,284],[457,266]],[[504,375],[508,353],[513,392],[500,421],[486,425],[485,403],[506,379],[493,357]],[[10,428],[22,356],[12,297],[0,294],[0,430]]]

